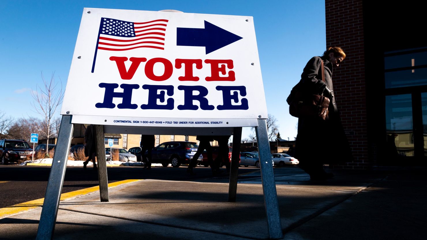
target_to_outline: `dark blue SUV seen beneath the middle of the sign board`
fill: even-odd
[[[152,163],[161,163],[164,167],[171,164],[174,168],[178,168],[181,164],[190,163],[198,148],[195,142],[164,142],[152,150]],[[200,154],[198,164],[202,159]]]

